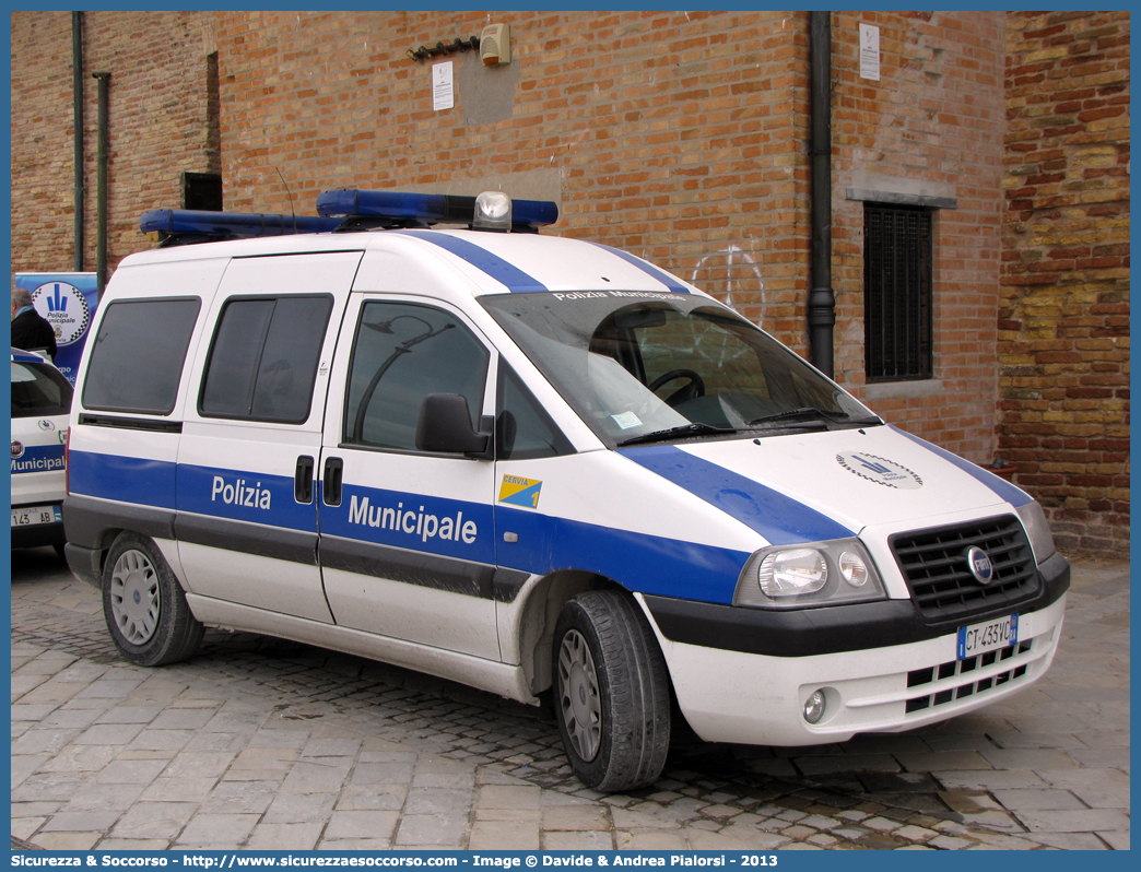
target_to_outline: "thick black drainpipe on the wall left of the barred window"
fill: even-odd
[[[812,365],[831,378],[832,334],[836,323],[836,296],[832,291],[832,13],[809,15],[812,242],[808,340]]]

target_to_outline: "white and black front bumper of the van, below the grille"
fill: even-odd
[[[1069,565],[1059,557],[1039,571],[1045,582],[1042,596],[1013,609],[1019,613],[1019,643],[965,661],[956,660],[957,628],[934,635],[930,628],[914,630],[922,638],[899,638],[908,635],[901,630],[901,611],[882,613],[892,620],[880,630],[885,625],[893,630],[884,635],[865,627],[857,645],[850,644],[857,624],[830,633],[828,621],[817,614],[820,628],[801,627],[800,632],[786,635],[786,643],[793,640],[790,652],[779,651],[779,638],[758,638],[744,632],[739,622],[727,628],[717,646],[671,638],[681,635],[670,632],[677,627],[677,609],[661,608],[654,597],[639,599],[665,655],[678,704],[698,736],[709,742],[798,746],[843,742],[857,733],[913,729],[988,705],[1036,681],[1058,651]],[[893,609],[911,606],[909,600],[889,603],[899,604]],[[665,617],[661,623],[658,615]],[[771,617],[764,613],[761,620]],[[963,623],[981,620],[986,617]],[[834,616],[835,621],[847,619]],[[703,640],[712,638],[706,636],[709,627],[690,629]],[[820,722],[811,725],[803,707],[817,689],[824,691],[826,708]]]

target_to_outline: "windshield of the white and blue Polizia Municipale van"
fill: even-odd
[[[882,423],[707,297],[582,291],[479,301],[610,446]]]

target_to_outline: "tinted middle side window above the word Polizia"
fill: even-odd
[[[332,310],[327,294],[229,300],[210,348],[199,412],[302,423]]]

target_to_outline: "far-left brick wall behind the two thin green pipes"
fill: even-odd
[[[83,14],[84,244],[96,263],[97,82],[110,72],[108,275],[151,248],[139,215],[177,207],[179,173],[218,171],[207,123],[204,13]],[[11,14],[11,268],[74,265],[71,13]]]

